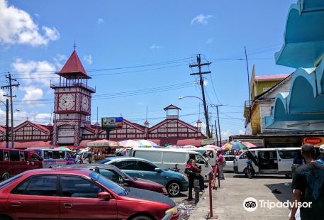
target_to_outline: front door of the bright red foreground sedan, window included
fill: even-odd
[[[100,185],[74,175],[60,176],[60,219],[117,219],[116,199],[99,199]]]

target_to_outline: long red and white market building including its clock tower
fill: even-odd
[[[14,147],[49,148],[56,145],[69,147],[86,147],[89,141],[106,138],[106,131],[99,123],[91,125],[91,94],[96,90],[88,85],[86,70],[74,50],[60,72],[60,81],[51,84],[55,89],[53,125],[47,126],[31,121],[25,121],[13,128]],[[123,127],[110,132],[112,141],[128,139],[148,139],[159,145],[201,145],[205,139],[201,133],[201,121],[192,126],[179,119],[177,106],[169,105],[164,108],[166,119],[155,126],[149,127],[148,121],[144,126],[123,119]],[[173,114],[171,114],[173,112]],[[108,113],[107,113],[108,115]],[[0,147],[5,146],[6,129],[0,126]],[[11,131],[9,131],[9,147],[11,147]]]

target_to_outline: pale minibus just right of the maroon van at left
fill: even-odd
[[[68,150],[53,150],[53,149],[40,149],[40,148],[28,148],[33,150],[40,158],[43,158],[43,167],[52,168],[61,165],[74,164],[75,155]]]

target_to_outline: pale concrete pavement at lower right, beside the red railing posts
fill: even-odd
[[[234,176],[234,177],[233,177]],[[284,182],[289,182],[285,186]],[[220,180],[220,188],[213,189],[213,216],[218,219],[289,219],[287,208],[261,208],[249,212],[243,208],[247,197],[263,199],[269,202],[286,202],[291,199],[291,179],[282,176],[261,176],[247,179],[241,175],[225,174],[225,180]],[[279,189],[281,194],[273,194],[273,189]],[[209,212],[209,189],[192,212],[189,220],[205,219]],[[204,199],[205,198],[205,199]]]

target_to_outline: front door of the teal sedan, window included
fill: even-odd
[[[137,161],[137,170],[140,178],[165,185],[164,172],[157,172],[155,168],[157,168],[157,166],[152,163],[143,160]]]

